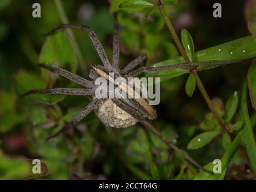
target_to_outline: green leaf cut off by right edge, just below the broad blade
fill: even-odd
[[[252,107],[256,110],[256,59],[252,61],[248,71],[248,88],[250,92]]]

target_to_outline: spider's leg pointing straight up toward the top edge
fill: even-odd
[[[114,35],[113,35],[113,67],[118,68],[120,53],[119,43],[119,25],[117,23],[116,14],[114,14]]]

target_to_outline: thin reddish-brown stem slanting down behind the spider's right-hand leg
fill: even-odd
[[[181,55],[183,56],[183,58],[185,59],[186,62],[191,62],[189,57],[187,56],[186,50],[184,49],[183,45],[181,44],[180,39],[178,38],[178,35],[176,34],[175,29],[172,26],[172,23],[170,22],[169,17],[167,16],[166,12],[163,9],[163,4],[161,4],[161,0],[158,0],[157,5],[161,12],[161,15],[164,18],[164,21],[166,22],[167,28],[169,29],[170,34],[172,35],[173,40],[176,43],[176,46],[180,50]],[[198,76],[197,71],[195,70],[195,67],[190,66],[190,73],[194,74],[194,76],[196,78],[196,85],[198,85],[198,88],[201,91],[202,96],[204,97],[208,107],[210,108],[211,112],[213,113],[214,117],[216,118],[218,124],[220,125],[220,127],[222,127],[223,130],[226,130],[225,125],[223,124],[222,120],[220,119],[219,115],[217,115],[217,112],[213,107],[213,103],[211,102],[211,99],[210,99],[209,95],[207,94],[207,91],[204,88],[204,85],[202,84],[201,79]]]

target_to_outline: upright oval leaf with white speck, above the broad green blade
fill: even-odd
[[[187,29],[181,30],[181,41],[182,41],[183,46],[187,52],[187,56],[189,56],[190,61],[194,62],[195,46],[194,46],[193,38],[190,35],[189,31],[187,31]]]

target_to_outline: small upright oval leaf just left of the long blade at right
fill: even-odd
[[[235,91],[234,94],[231,95],[231,97],[229,97],[228,101],[226,102],[225,119],[227,122],[231,121],[231,119],[235,115],[238,104],[239,95],[237,94],[237,91]]]

